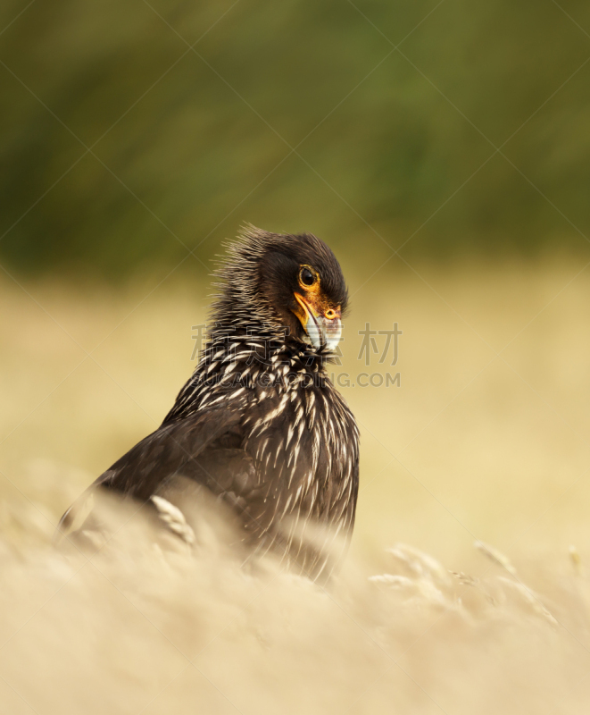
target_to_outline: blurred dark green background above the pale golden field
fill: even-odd
[[[582,0],[4,0],[9,23],[13,272],[207,264],[244,221],[368,267],[588,250]]]

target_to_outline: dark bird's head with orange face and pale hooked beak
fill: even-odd
[[[223,282],[213,319],[287,328],[316,349],[336,348],[348,295],[336,257],[316,236],[247,226],[217,275]]]

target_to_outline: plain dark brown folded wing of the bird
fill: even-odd
[[[74,501],[60,520],[57,527],[59,533],[70,531],[79,512],[87,506],[97,488],[147,501],[174,475],[187,476],[214,487],[218,477],[212,474],[211,464],[219,462],[220,455],[227,452],[229,467],[232,461],[237,462],[237,453],[241,450],[210,448],[214,442],[221,442],[220,446],[223,446],[225,435],[239,432],[240,421],[241,410],[224,407],[207,409],[187,419],[163,424],[137,442]],[[217,459],[212,455],[217,455]],[[243,456],[246,457],[245,453]],[[232,471],[236,471],[237,464],[233,467]]]

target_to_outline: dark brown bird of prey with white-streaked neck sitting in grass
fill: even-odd
[[[345,278],[312,233],[246,224],[225,248],[194,373],[162,425],[100,475],[58,529],[71,529],[89,493],[159,505],[182,477],[229,509],[251,553],[272,551],[318,580],[350,543],[359,489],[359,429],[328,377]]]

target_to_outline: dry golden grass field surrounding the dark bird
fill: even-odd
[[[162,541],[137,517],[90,559],[54,550],[62,510],[190,373],[206,287],[163,283],[138,305],[148,281],[27,284],[32,298],[4,283],[0,711],[588,712],[580,267],[422,266],[423,281],[400,266],[362,288],[346,268],[361,290],[337,370],[383,369],[357,360],[357,331],[396,321],[386,369],[402,386],[343,390],[361,495],[326,590],[272,560],[242,569],[209,532],[192,550]]]

